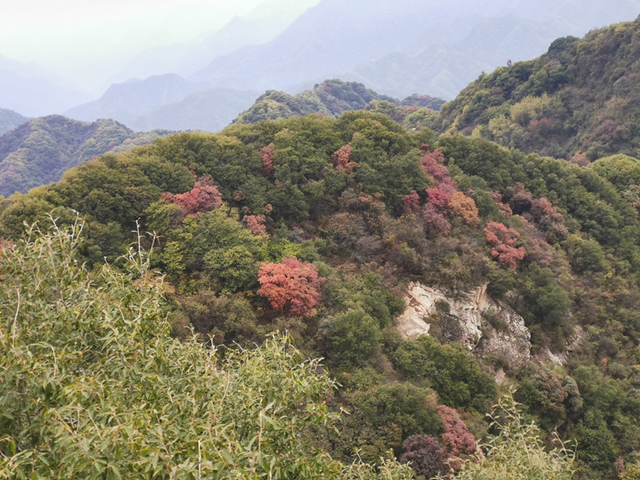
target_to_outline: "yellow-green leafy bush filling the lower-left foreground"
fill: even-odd
[[[0,249],[0,478],[411,478],[314,445],[337,419],[318,361],[171,338],[148,257],[90,273],[81,229]]]

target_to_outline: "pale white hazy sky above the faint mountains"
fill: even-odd
[[[0,0],[0,54],[99,78],[145,48],[203,38],[264,1]]]

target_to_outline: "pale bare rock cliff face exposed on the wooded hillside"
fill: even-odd
[[[524,319],[487,294],[487,286],[453,297],[420,283],[409,286],[407,309],[396,319],[405,338],[437,335],[464,345],[498,367],[521,368],[531,359],[531,334]]]

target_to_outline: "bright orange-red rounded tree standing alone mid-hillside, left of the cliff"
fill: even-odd
[[[302,317],[312,312],[322,301],[315,265],[284,258],[282,263],[263,263],[258,273],[262,288],[258,295],[269,300],[271,307],[286,315]]]

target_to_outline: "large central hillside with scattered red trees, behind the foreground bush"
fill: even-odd
[[[427,477],[516,478],[497,477],[496,465],[522,466],[518,455],[532,448],[532,478],[576,468],[613,479],[634,471],[640,449],[638,179],[631,157],[580,167],[347,112],[104,155],[1,201],[0,237],[11,245],[24,222],[46,230],[49,212],[61,226],[80,212],[78,258],[124,269],[117,259],[136,222],[155,232],[151,262],[165,275],[174,337],[193,328],[205,344],[254,348],[286,330],[303,355],[325,358],[341,385],[327,406],[349,415],[340,435],[310,428],[336,461],[393,454]],[[441,292],[418,319],[429,335],[399,323],[416,286]],[[458,306],[479,288],[494,306],[460,343]],[[508,387],[522,422],[542,433],[521,432],[525,450],[486,447],[476,469],[465,459],[478,442],[510,445],[485,417]],[[578,442],[573,467],[570,453],[540,456],[535,438],[552,442],[554,431]]]

